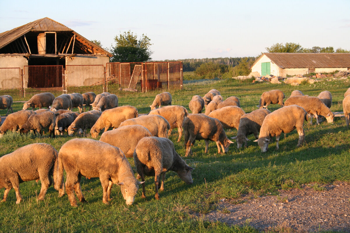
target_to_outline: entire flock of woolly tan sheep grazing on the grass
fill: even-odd
[[[344,115],[346,125],[349,126],[350,88],[344,97]],[[272,137],[276,138],[278,149],[281,133],[289,133],[294,129],[299,134],[297,146],[302,145],[303,123],[308,114],[311,115],[310,124],[313,116],[317,124],[322,116],[328,122],[333,122],[334,114],[329,109],[332,96],[328,91],[312,97],[295,90],[285,103],[284,98],[281,90],[264,92],[259,109],[246,114],[240,108],[237,97],[223,100],[220,92],[212,89],[204,97],[193,96],[189,102],[189,109],[193,113],[189,114],[183,106],[171,105],[171,94],[163,92],[156,95],[148,114],[139,115],[133,106],[118,107],[118,97],[107,92],[99,95],[92,92],[62,94],[56,98],[51,93],[36,94],[18,112],[12,110],[11,96],[0,96],[0,109],[8,109],[7,114],[10,110],[12,112],[0,126],[0,138],[8,130],[20,133],[33,131],[42,135],[43,129],[47,129],[49,137],[64,132],[70,136],[75,133],[87,135],[86,130],[90,129],[91,137],[97,138],[104,129],[99,141],[75,138],[66,142],[59,152],[49,144],[35,143],[2,156],[0,188],[5,187],[5,192],[1,202],[6,201],[8,192],[14,188],[16,204],[20,203],[19,183],[40,179],[42,186],[38,199],[42,200],[48,187],[54,183],[59,196],[66,192],[70,204],[77,206],[74,193],[80,202],[85,202],[80,188],[82,176],[99,177],[103,187],[103,203],[106,204],[110,201],[112,185],[120,185],[127,205],[134,202],[140,184],[142,197],[146,197],[145,176],[154,176],[155,198],[159,199],[158,189],[164,189],[168,170],[176,172],[187,184],[193,183],[193,168],[176,153],[173,142],[168,139],[172,129],[178,129],[177,142],[184,134],[185,156],[188,156],[193,153],[191,147],[195,140],[205,141],[205,153],[208,152],[209,140],[216,142],[218,153],[221,150],[227,152],[233,142],[228,139],[224,129],[238,130],[237,136],[232,137],[236,139],[238,148],[243,144],[247,146],[248,135],[254,134],[261,151],[266,152]],[[269,104],[280,104],[282,108],[271,112],[267,110]],[[27,110],[30,107],[32,110]],[[88,111],[86,107],[89,107]],[[205,114],[202,114],[204,107]],[[39,109],[34,111],[35,108]],[[72,108],[78,108],[79,114],[72,112]],[[110,128],[113,130],[107,131]],[[141,182],[135,178],[128,157],[134,158],[137,178],[141,178]],[[63,170],[66,172],[65,183]]]

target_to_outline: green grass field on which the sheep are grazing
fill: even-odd
[[[349,80],[321,81],[315,84],[293,87],[270,83],[251,83],[250,81],[218,80],[197,81],[184,85],[184,90],[170,90],[173,104],[188,103],[193,95],[203,96],[208,90],[218,89],[225,98],[237,96],[245,112],[257,109],[262,92],[272,89],[282,90],[286,98],[295,90],[317,96],[323,90],[332,93],[331,110],[342,111],[343,94],[350,86]],[[154,96],[159,91],[148,93],[117,92],[119,105],[133,105],[139,113],[147,113]],[[4,93],[6,94],[6,93]],[[56,94],[55,94],[56,95]],[[20,100],[14,98],[14,101]],[[14,111],[21,110],[23,103],[14,103]],[[269,110],[280,108],[270,105]],[[0,115],[6,114],[0,110]],[[232,200],[242,194],[276,195],[280,188],[299,187],[305,183],[332,183],[350,181],[350,130],[344,118],[335,118],[334,123],[322,122],[320,125],[304,123],[305,144],[296,148],[298,135],[294,130],[281,137],[280,149],[275,147],[274,139],[270,150],[261,153],[258,145],[248,142],[247,148],[237,149],[231,145],[228,153],[218,154],[214,142],[209,143],[209,153],[204,153],[204,141],[197,141],[192,147],[193,156],[185,158],[194,167],[194,183],[187,185],[174,172],[168,172],[165,190],[160,192],[160,200],[154,198],[154,177],[146,179],[146,199],[141,198],[141,190],[132,206],[126,206],[118,187],[113,186],[110,205],[102,203],[102,187],[98,178],[82,179],[82,190],[87,203],[70,206],[67,196],[58,198],[58,192],[51,186],[44,201],[37,202],[40,181],[20,184],[23,202],[16,205],[14,190],[9,192],[7,202],[0,203],[0,232],[258,232],[249,225],[227,226],[224,223],[209,222],[201,216],[214,210],[219,199]],[[236,136],[237,130],[227,130],[228,137]],[[253,139],[251,135],[248,137]],[[56,136],[48,138],[26,136],[8,132],[0,139],[0,156],[31,143],[48,143],[57,150],[71,137]],[[185,154],[184,139],[176,142],[177,130],[170,139],[176,151]],[[134,162],[129,159],[132,167]],[[289,182],[293,180],[294,182]],[[0,195],[3,195],[1,189]]]

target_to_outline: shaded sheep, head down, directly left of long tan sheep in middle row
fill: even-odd
[[[68,135],[73,136],[73,134],[76,132],[78,132],[80,135],[82,133],[85,134],[86,129],[91,129],[100,116],[101,112],[97,110],[82,112],[68,127]]]

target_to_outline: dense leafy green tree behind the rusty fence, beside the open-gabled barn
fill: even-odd
[[[150,50],[151,39],[145,34],[138,40],[133,32],[125,31],[114,38],[116,46],[111,49],[114,55],[111,62],[143,62],[151,60],[152,51]]]

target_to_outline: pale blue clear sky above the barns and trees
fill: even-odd
[[[258,56],[276,43],[350,50],[350,0],[0,0],[0,32],[49,17],[103,48],[132,31],[152,60]]]

